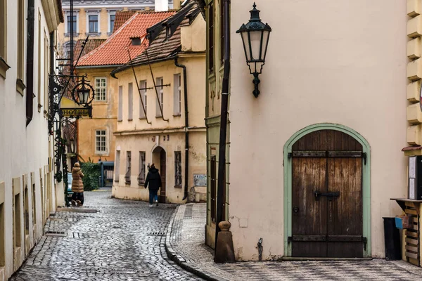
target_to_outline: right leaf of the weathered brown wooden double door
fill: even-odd
[[[328,200],[328,257],[362,257],[362,158],[328,158],[328,191],[340,192]],[[331,242],[344,237],[348,242]]]

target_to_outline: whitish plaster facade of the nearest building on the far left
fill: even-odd
[[[56,188],[53,180],[53,137],[48,134],[48,119],[44,109],[48,110],[48,91],[44,87],[46,79],[44,70],[49,68],[45,62],[45,48],[49,47],[50,32],[41,0],[34,3],[34,104],[32,121],[26,126],[26,95],[27,90],[21,95],[16,91],[18,69],[18,46],[16,34],[18,32],[18,1],[6,1],[6,63],[11,67],[6,71],[6,77],[0,76],[0,204],[3,208],[4,226],[0,226],[0,236],[4,237],[4,264],[0,265],[0,280],[8,280],[13,272],[23,263],[30,249],[43,235],[45,214],[56,211]],[[26,1],[25,1],[26,2]],[[27,18],[27,6],[24,8]],[[41,14],[41,30],[38,25],[38,13]],[[26,21],[25,21],[26,22]],[[27,33],[25,24],[25,34]],[[38,32],[41,32],[41,52],[38,56]],[[47,40],[44,41],[44,32]],[[23,52],[26,61],[27,38]],[[38,65],[41,64],[41,67]],[[26,84],[27,70],[24,65],[24,83]],[[39,71],[40,69],[40,71]],[[40,86],[39,86],[40,83]],[[31,93],[32,95],[32,93]],[[38,97],[41,105],[38,107]],[[50,164],[49,164],[50,163]],[[40,172],[41,171],[41,172]],[[41,185],[42,182],[42,185]],[[14,183],[14,184],[13,184]],[[28,233],[25,233],[24,192],[27,188],[28,195]],[[34,193],[32,193],[34,190]],[[20,194],[19,202],[14,202],[14,196]],[[35,195],[34,200],[32,194]],[[48,195],[48,197],[47,197]],[[34,202],[34,204],[33,204]],[[15,223],[14,206],[20,206],[19,223]],[[42,211],[44,206],[44,212]],[[34,219],[33,219],[34,218]],[[13,229],[20,227],[20,247],[13,245]]]

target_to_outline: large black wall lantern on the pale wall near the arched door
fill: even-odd
[[[236,33],[241,34],[246,63],[248,63],[250,74],[253,74],[254,77],[255,90],[253,95],[255,98],[260,94],[258,90],[258,84],[260,84],[258,75],[261,74],[262,66],[265,63],[269,32],[271,32],[271,27],[261,21],[260,10],[257,10],[257,6],[254,3],[252,10],[250,10],[249,22],[246,25],[243,24]]]

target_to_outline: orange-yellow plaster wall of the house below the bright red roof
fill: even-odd
[[[78,74],[88,74],[88,80],[95,89],[96,77],[106,77],[106,101],[92,102],[92,119],[78,120],[78,153],[85,160],[98,162],[115,160],[115,136],[117,130],[117,79],[110,77],[112,68],[78,68]],[[108,151],[98,153],[95,150],[96,130],[106,129]],[[106,160],[107,159],[107,160]]]

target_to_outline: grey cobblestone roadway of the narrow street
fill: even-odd
[[[61,236],[43,236],[11,280],[200,280],[165,253],[175,205],[150,208],[110,195],[110,189],[85,192],[87,207],[57,211],[45,231]],[[79,212],[87,209],[98,212]]]

